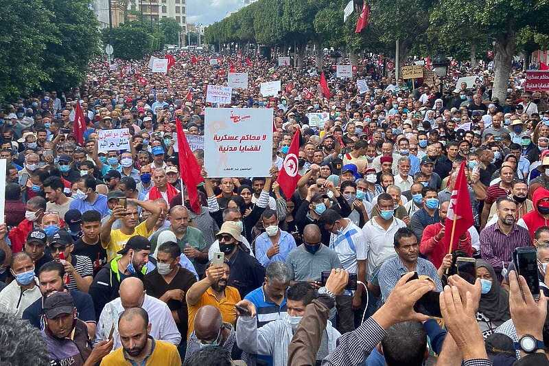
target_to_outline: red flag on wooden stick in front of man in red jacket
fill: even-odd
[[[450,196],[448,214],[444,225],[445,253],[452,252],[457,247],[456,243],[460,236],[473,224],[473,209],[471,209],[469,188],[467,186],[467,178],[465,177],[465,161],[463,161],[458,171],[454,190],[452,190],[452,196]]]

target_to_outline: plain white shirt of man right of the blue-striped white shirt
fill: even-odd
[[[368,257],[366,271],[369,275],[373,273],[377,266],[381,266],[387,258],[395,255],[393,240],[395,239],[395,233],[401,227],[406,227],[406,224],[395,217],[393,217],[393,222],[391,222],[387,231],[379,226],[375,216],[366,222],[366,225],[362,228],[362,233],[366,238],[366,254]]]

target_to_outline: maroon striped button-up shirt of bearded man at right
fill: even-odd
[[[518,247],[532,247],[528,230],[513,224],[509,234],[500,230],[500,222],[480,231],[480,255],[497,273],[511,262],[511,253]],[[503,263],[502,263],[503,262]]]

